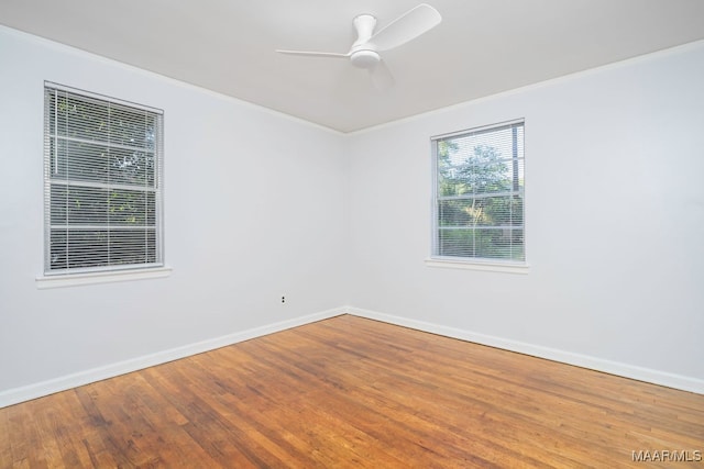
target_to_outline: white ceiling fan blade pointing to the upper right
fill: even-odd
[[[421,3],[382,27],[370,38],[370,42],[376,46],[377,51],[388,51],[415,40],[441,21],[442,16],[438,10]]]

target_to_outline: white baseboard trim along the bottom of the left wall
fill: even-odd
[[[264,326],[254,327],[254,328],[238,332],[234,334],[228,334],[220,337],[215,337],[211,339],[198,342],[195,344],[185,345],[183,347],[176,347],[168,350],[157,351],[155,354],[145,355],[142,357],[130,359],[130,360],[107,365],[105,367],[98,367],[98,368],[92,368],[85,371],[79,371],[73,375],[63,376],[59,378],[37,382],[34,384],[24,386],[21,388],[9,389],[0,392],[0,409],[6,407],[8,405],[18,404],[20,402],[30,401],[32,399],[54,394],[56,392],[66,391],[68,389],[76,388],[79,386],[89,384],[91,382],[101,381],[103,379],[114,378],[120,375],[125,375],[132,371],[138,371],[144,368],[162,365],[168,361],[174,361],[179,358],[189,357],[191,355],[201,354],[204,351],[213,350],[220,347],[226,347],[228,345],[237,344],[239,342],[244,342],[251,338],[261,337],[264,335],[285,331],[287,328],[314,323],[316,321],[339,316],[341,314],[345,314],[345,312],[346,311],[344,308],[322,311],[315,314],[308,314],[305,316],[295,317],[293,320],[282,321],[274,324],[267,324]]]

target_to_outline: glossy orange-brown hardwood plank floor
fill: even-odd
[[[0,468],[704,468],[702,457],[704,395],[351,315],[0,410]]]

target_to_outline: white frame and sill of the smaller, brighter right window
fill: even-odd
[[[524,179],[526,178],[526,168],[525,168],[525,119],[514,119],[510,121],[498,122],[495,124],[482,125],[476,127],[470,127],[462,131],[451,132],[447,134],[435,135],[430,137],[430,146],[431,146],[431,223],[430,223],[430,256],[426,259],[426,265],[429,267],[440,267],[440,268],[452,268],[452,269],[470,269],[470,270],[484,270],[484,271],[496,271],[496,272],[507,272],[507,273],[528,273],[529,272],[529,264],[527,261],[527,234],[526,234],[526,196],[525,196],[525,181],[522,189],[522,249],[524,249],[524,259],[521,260],[513,260],[513,259],[502,259],[502,258],[486,258],[486,257],[471,257],[471,256],[443,256],[439,253],[439,167],[438,167],[438,142],[450,139],[452,137],[462,137],[464,135],[482,133],[482,132],[491,132],[492,130],[501,130],[514,125],[521,125],[524,129],[524,155],[522,155],[522,165],[524,165]]]

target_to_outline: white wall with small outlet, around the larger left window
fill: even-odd
[[[8,29],[0,64],[0,405],[344,304],[339,134]],[[44,80],[164,110],[170,277],[36,288]]]

